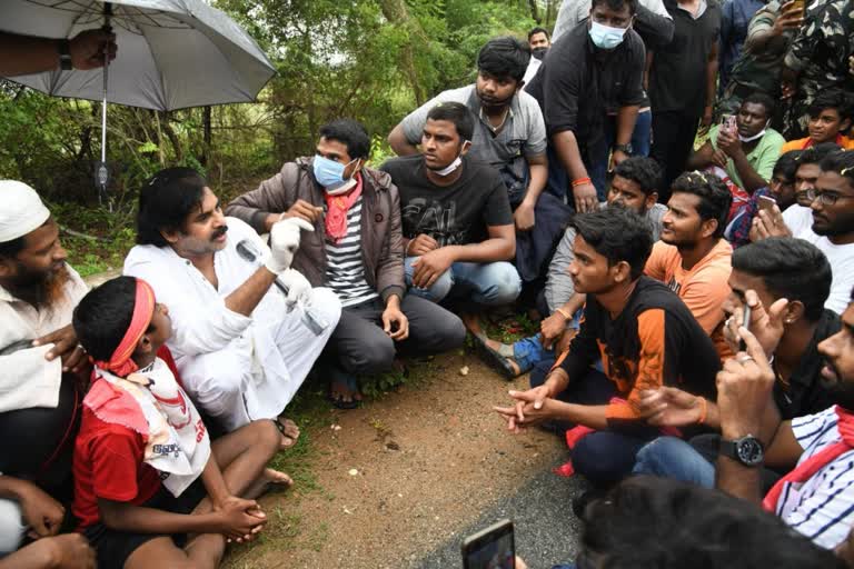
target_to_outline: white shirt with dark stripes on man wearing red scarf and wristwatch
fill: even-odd
[[[842,440],[834,407],[792,420],[804,449],[798,463]],[[825,549],[842,542],[854,525],[854,450],[840,455],[803,483],[786,483],[777,501],[777,516],[791,528]]]

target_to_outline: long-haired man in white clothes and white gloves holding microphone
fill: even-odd
[[[202,192],[185,221],[170,221],[168,216],[180,207],[170,200],[176,193],[192,194],[200,184]],[[229,431],[256,419],[276,420],[324,349],[341,310],[332,291],[311,289],[288,268],[300,229],[289,228],[296,234],[289,258],[279,254],[287,248],[277,248],[276,229],[270,251],[248,224],[222,216],[199,174],[172,168],[143,188],[138,230],[137,242],[149,243],[130,250],[125,274],[145,279],[169,308],[173,336],[168,346],[186,391]],[[155,233],[166,244],[156,244]],[[238,243],[257,259],[241,256]],[[268,277],[274,271],[289,293],[272,286],[276,274]],[[306,312],[322,330],[306,325]]]

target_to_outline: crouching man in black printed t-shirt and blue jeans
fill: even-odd
[[[509,261],[516,236],[500,174],[468,152],[474,118],[465,104],[430,109],[424,154],[393,158],[380,168],[400,192],[406,282],[440,302],[480,306],[516,300],[522,283]]]

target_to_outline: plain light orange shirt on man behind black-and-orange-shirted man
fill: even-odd
[[[691,270],[682,267],[675,246],[658,241],[646,261],[644,272],[659,280],[679,296],[701,328],[712,338],[721,360],[733,356],[724,340],[724,300],[729,296],[733,247],[721,239]]]

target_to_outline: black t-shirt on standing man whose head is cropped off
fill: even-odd
[[[683,111],[702,117],[706,106],[706,63],[721,36],[721,7],[707,0],[706,11],[694,19],[675,0],[665,8],[673,17],[673,41],[653,57],[649,71],[649,99],[653,111]]]

